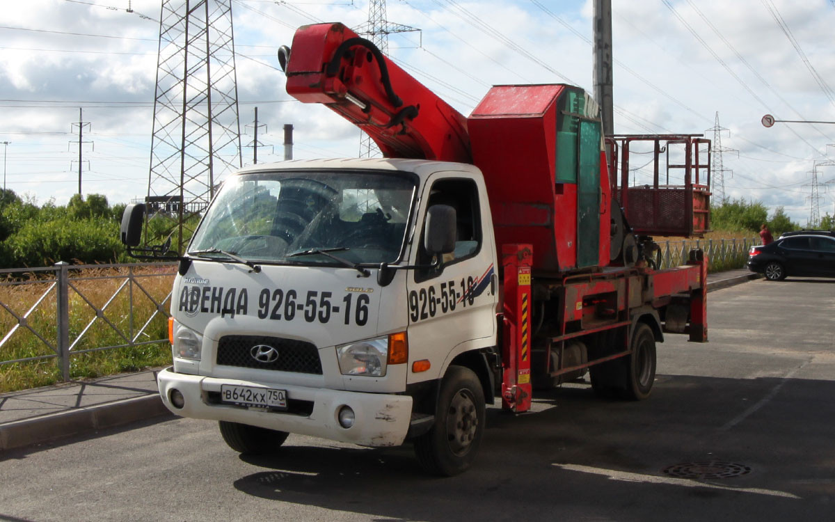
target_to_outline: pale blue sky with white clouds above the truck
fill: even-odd
[[[114,204],[148,194],[161,5],[3,0],[6,188],[39,205],[78,192],[81,109],[83,195]],[[282,159],[284,124],[295,128],[295,159],[356,157],[359,130],[286,94],[276,49],[308,23],[356,28],[367,0],[231,7],[244,164],[256,107],[259,163]],[[386,10],[389,22],[420,29],[390,35],[390,56],[465,116],[494,84],[593,89],[590,0],[389,0]],[[612,0],[615,133],[714,139],[718,114],[726,197],[783,207],[804,226],[817,171],[820,215],[833,215],[835,124],[762,124],[765,114],[835,122],[832,27],[835,0]]]

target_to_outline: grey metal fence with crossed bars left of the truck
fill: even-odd
[[[0,270],[0,366],[57,358],[68,381],[73,355],[168,342],[159,332],[176,269],[62,261]]]

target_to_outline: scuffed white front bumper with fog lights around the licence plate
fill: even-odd
[[[254,383],[237,379],[221,379],[176,373],[173,368],[159,372],[159,396],[172,413],[190,418],[224,420],[251,424],[261,428],[301,433],[364,446],[397,446],[406,438],[412,415],[412,398],[387,393],[359,393],[325,388]],[[281,388],[287,392],[288,412],[267,412],[221,404],[220,386],[235,384],[258,388]],[[185,398],[182,408],[171,403],[172,390]],[[295,404],[296,408],[292,405]],[[355,421],[351,428],[342,428],[337,420],[339,409],[349,406]]]

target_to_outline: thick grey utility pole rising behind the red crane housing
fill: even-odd
[[[614,93],[612,89],[612,0],[595,0],[595,99],[600,104],[603,134],[615,134]],[[607,154],[610,154],[607,150]]]

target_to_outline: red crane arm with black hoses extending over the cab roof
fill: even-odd
[[[342,23],[299,28],[286,74],[288,94],[326,105],[388,158],[473,161],[467,119]]]

